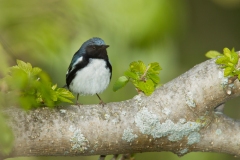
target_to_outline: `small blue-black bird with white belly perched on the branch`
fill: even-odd
[[[106,45],[101,38],[91,38],[84,42],[80,49],[74,54],[66,73],[68,89],[80,95],[96,94],[103,92],[112,78],[112,66],[107,55]]]

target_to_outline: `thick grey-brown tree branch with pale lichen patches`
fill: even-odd
[[[15,135],[8,157],[109,155],[172,151],[240,156],[240,123],[214,108],[240,95],[215,60],[164,84],[151,96],[122,102],[3,112]]]

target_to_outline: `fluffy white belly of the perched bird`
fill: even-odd
[[[69,89],[81,95],[93,95],[103,92],[110,82],[110,70],[102,59],[90,59],[83,69],[77,71]]]

